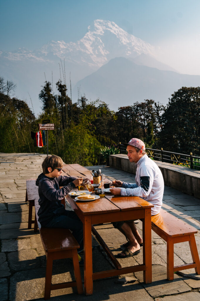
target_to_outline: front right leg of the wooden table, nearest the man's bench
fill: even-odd
[[[152,282],[152,250],[151,250],[151,208],[144,209],[143,219],[143,264],[146,266],[143,271],[145,283]]]

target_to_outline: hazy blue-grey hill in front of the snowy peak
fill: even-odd
[[[185,75],[173,71],[137,65],[125,57],[117,57],[100,67],[96,72],[80,80],[80,87],[88,99],[97,99],[109,104],[110,109],[131,105],[144,99],[153,99],[162,104],[182,86],[199,86],[199,75]]]

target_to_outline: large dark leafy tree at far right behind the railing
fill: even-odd
[[[162,116],[159,145],[168,151],[199,154],[200,87],[182,87],[171,96]]]

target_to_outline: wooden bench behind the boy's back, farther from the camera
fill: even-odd
[[[29,219],[28,219],[28,229],[31,229],[32,224],[35,224],[35,219],[32,220],[32,208],[35,206],[35,200],[39,199],[38,186],[35,185],[36,179],[26,180],[26,199],[25,202],[29,202]],[[65,198],[61,201],[65,206]],[[37,232],[37,224],[34,227],[34,232]]]

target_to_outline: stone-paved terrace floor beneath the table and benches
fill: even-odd
[[[40,235],[28,230],[28,204],[25,203],[26,179],[36,178],[41,172],[43,154],[0,153],[0,299],[1,301],[44,300],[46,257]],[[101,168],[110,179],[133,182],[134,175],[109,166],[87,166]],[[66,204],[67,205],[67,204]],[[69,206],[69,205],[68,205]],[[200,200],[170,187],[165,187],[163,208],[198,229],[195,235],[200,253]],[[142,233],[142,223],[138,228]],[[125,242],[123,235],[111,224],[96,226],[114,254],[121,251]],[[112,269],[112,264],[97,241],[93,251],[93,270]],[[54,290],[52,301],[62,300],[134,300],[175,301],[200,300],[200,278],[175,274],[174,281],[166,279],[166,243],[152,231],[152,284],[143,283],[143,273],[123,275],[94,281],[92,296],[79,296],[76,288]],[[141,253],[119,259],[122,266],[142,263]],[[189,243],[175,244],[174,264],[192,262]],[[83,279],[83,267],[81,274]],[[186,274],[186,271],[182,271]],[[190,271],[194,273],[194,269]],[[196,277],[196,274],[193,274]],[[126,276],[126,278],[124,278]],[[52,282],[73,279],[73,266],[69,259],[55,262]],[[65,280],[64,280],[65,279]]]

